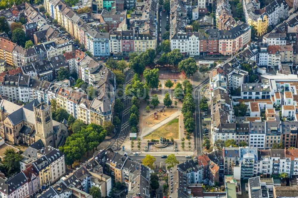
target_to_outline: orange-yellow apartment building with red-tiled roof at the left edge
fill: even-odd
[[[3,59],[8,65],[13,66],[13,50],[16,44],[0,38],[0,59]]]

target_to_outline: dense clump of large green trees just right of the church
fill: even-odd
[[[72,167],[76,160],[80,160],[85,152],[96,148],[107,135],[107,131],[94,123],[88,126],[82,120],[75,120],[72,126],[72,135],[66,138],[64,146],[59,147],[65,155],[65,163]]]

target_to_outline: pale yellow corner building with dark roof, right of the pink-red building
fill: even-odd
[[[150,34],[137,34],[134,37],[134,51],[137,54],[141,54],[145,52],[147,49],[156,48],[156,40],[155,37]]]

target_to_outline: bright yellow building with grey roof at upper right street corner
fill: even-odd
[[[268,21],[268,16],[265,13],[263,13],[262,15],[256,15],[250,12],[247,19],[247,23],[250,26],[255,26],[255,28],[257,29],[257,36],[262,36],[266,33]]]

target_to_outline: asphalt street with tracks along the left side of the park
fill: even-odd
[[[133,76],[134,76],[134,72],[132,70],[129,70],[125,78],[125,84],[130,84]],[[125,87],[123,87],[123,89],[125,89]],[[110,140],[111,144],[109,147],[111,147],[114,151],[121,149],[121,145],[123,144],[130,129],[128,120],[129,120],[129,108],[131,106],[131,99],[127,95],[125,95],[123,103],[125,107],[122,112],[121,130],[119,133],[115,135],[115,137],[117,137],[116,139]]]

